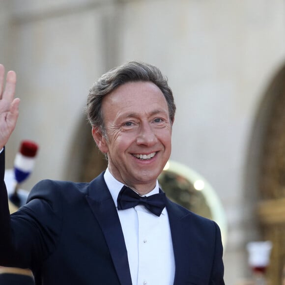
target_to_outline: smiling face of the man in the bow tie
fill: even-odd
[[[110,172],[138,191],[151,191],[171,154],[171,121],[163,93],[151,82],[120,85],[103,99],[102,114],[107,138],[98,129],[92,133],[108,155]]]

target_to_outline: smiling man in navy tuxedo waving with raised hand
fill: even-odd
[[[0,66],[0,147],[12,133],[16,77]],[[224,285],[215,222],[171,202],[158,175],[171,154],[175,104],[153,65],[131,61],[90,89],[86,113],[108,168],[90,183],[43,180],[11,215],[0,187],[0,264],[37,285]],[[4,173],[4,149],[0,174]]]

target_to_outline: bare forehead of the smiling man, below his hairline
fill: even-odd
[[[122,114],[167,112],[164,94],[152,82],[129,82],[117,87],[102,102],[104,117]]]

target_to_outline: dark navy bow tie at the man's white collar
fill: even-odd
[[[129,187],[123,186],[117,199],[118,210],[133,208],[140,204],[159,217],[165,207],[165,197],[165,193],[163,192],[143,197]]]

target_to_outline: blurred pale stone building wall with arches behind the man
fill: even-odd
[[[177,106],[171,160],[205,177],[221,200],[226,284],[250,276],[246,244],[267,239],[272,285],[280,284],[283,0],[1,0],[0,62],[17,72],[21,98],[6,168],[28,139],[39,151],[23,188],[44,178],[94,177],[105,162],[83,112],[88,90],[101,74],[133,59],[169,78]]]

